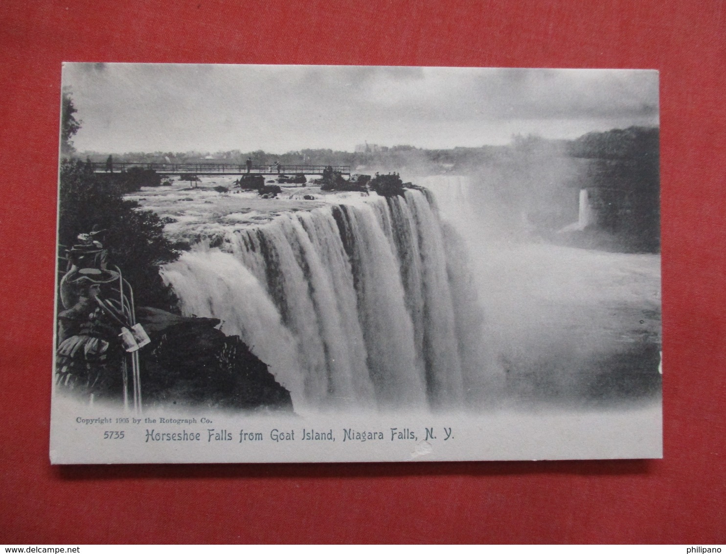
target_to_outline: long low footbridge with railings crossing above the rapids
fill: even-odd
[[[109,173],[106,162],[91,162],[94,173]],[[305,174],[322,175],[328,166],[300,166],[283,165],[260,166],[254,165],[249,169],[244,163],[142,163],[142,162],[114,162],[113,173],[129,171],[131,168],[153,169],[160,175],[281,175],[281,174]],[[330,166],[333,171],[343,175],[351,174],[351,166]]]

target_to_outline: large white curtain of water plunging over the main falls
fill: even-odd
[[[240,335],[296,410],[478,405],[495,394],[481,309],[432,202],[407,190],[285,213],[162,277],[185,315]]]

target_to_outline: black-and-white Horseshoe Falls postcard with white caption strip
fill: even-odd
[[[61,102],[52,463],[661,457],[656,71],[66,63]]]

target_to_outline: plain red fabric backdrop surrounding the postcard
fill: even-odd
[[[725,37],[722,0],[5,0],[0,542],[726,542]],[[664,460],[51,467],[64,60],[661,70]]]

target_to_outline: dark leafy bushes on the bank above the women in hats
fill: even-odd
[[[124,200],[124,192],[122,182],[97,177],[80,160],[62,160],[60,244],[70,247],[94,225],[107,229],[104,246],[110,263],[118,265],[131,283],[136,305],[172,309],[176,301],[163,285],[158,268],[176,260],[184,247],[164,237],[159,216]]]

